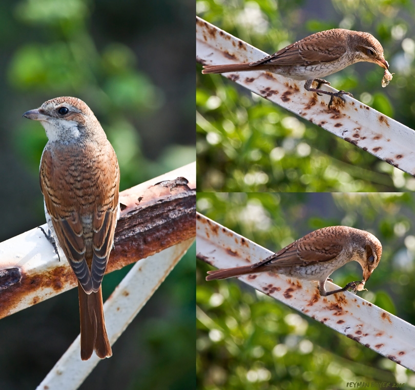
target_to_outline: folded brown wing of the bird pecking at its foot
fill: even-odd
[[[342,242],[336,237],[325,238],[324,236],[319,236],[318,240],[313,241],[311,246],[307,244],[309,242],[308,236],[304,236],[274,253],[274,255],[254,264],[253,268],[259,266],[288,267],[293,265],[310,265],[332,260],[343,250]]]

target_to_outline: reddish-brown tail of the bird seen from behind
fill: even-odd
[[[93,351],[100,359],[112,356],[111,343],[103,316],[101,287],[87,294],[78,282],[81,359],[88,360]]]

